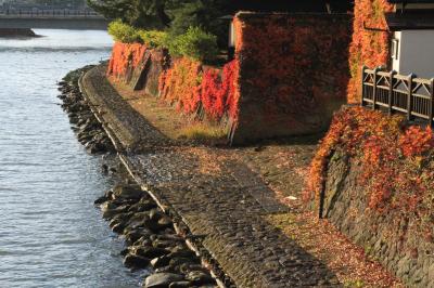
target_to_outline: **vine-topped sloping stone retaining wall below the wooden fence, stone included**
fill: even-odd
[[[411,287],[434,287],[433,139],[399,115],[347,107],[310,170],[320,214]]]

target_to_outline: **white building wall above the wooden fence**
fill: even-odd
[[[403,30],[395,32],[398,57],[393,69],[399,74],[416,74],[420,78],[434,78],[434,30]]]

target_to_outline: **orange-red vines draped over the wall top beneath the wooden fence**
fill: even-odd
[[[374,211],[425,211],[434,197],[434,134],[430,127],[407,126],[403,116],[388,117],[362,107],[345,108],[333,119],[311,162],[309,192],[316,199],[324,187],[333,153],[342,149],[360,165],[358,184],[366,187]],[[307,196],[309,196],[307,194]]]

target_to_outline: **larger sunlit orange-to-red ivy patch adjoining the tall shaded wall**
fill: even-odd
[[[186,57],[175,60],[161,75],[159,95],[186,114],[204,114],[214,121],[220,121],[225,116],[235,120],[237,68],[237,61],[217,69]]]

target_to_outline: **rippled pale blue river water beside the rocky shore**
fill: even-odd
[[[59,106],[56,81],[107,58],[104,31],[0,39],[0,287],[137,287],[92,205],[112,183]]]

